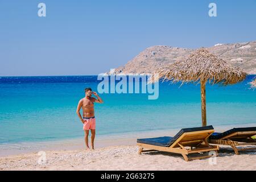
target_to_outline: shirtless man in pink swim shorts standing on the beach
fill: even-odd
[[[92,94],[97,97],[92,97]],[[81,122],[84,124],[84,132],[85,132],[85,146],[86,150],[90,149],[88,144],[88,135],[89,130],[91,133],[91,146],[92,150],[94,150],[94,138],[95,138],[95,130],[96,130],[96,119],[94,116],[94,102],[103,103],[102,99],[96,92],[92,92],[91,88],[85,89],[85,97],[79,101],[77,105],[76,114],[79,116]],[[80,109],[82,107],[82,117],[80,114]]]

